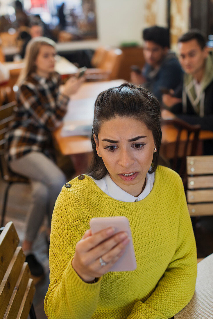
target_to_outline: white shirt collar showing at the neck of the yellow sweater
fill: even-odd
[[[151,192],[154,184],[154,173],[146,174],[146,186],[142,193],[138,197],[132,196],[129,193],[125,192],[123,189],[121,189],[109,176],[107,173],[103,178],[100,180],[96,180],[93,177],[91,177],[93,181],[96,183],[96,185],[104,192],[106,195],[109,195],[110,197],[120,200],[122,202],[138,202],[142,199],[144,199],[149,193]]]

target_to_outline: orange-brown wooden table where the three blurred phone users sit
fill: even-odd
[[[63,124],[60,128],[53,132],[53,138],[56,147],[62,155],[70,156],[73,161],[76,175],[86,173],[89,163],[92,158],[91,134],[88,135],[74,135],[69,136],[69,131],[66,127],[72,124],[89,124],[92,125],[94,103],[97,95],[110,88],[121,85],[125,80],[111,80],[99,82],[84,83],[77,93],[72,95],[72,99],[68,103],[67,114],[64,117]],[[175,115],[168,110],[162,111],[162,118],[168,119]],[[162,156],[164,159],[170,159],[172,154],[171,147],[176,142],[177,129],[172,125],[162,125],[162,149],[164,150]],[[184,140],[186,136],[183,134],[181,139]],[[199,139],[213,139],[213,132],[200,131]]]

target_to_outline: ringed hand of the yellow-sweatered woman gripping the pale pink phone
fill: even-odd
[[[127,233],[114,234],[109,227],[96,234],[87,230],[82,239],[76,244],[72,265],[77,274],[85,282],[93,282],[95,278],[106,274],[112,265],[124,254],[129,243]],[[99,258],[106,266],[101,266]]]

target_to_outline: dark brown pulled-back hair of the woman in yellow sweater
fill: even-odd
[[[147,128],[152,131],[157,148],[157,152],[154,152],[153,155],[152,169],[149,171],[153,173],[158,165],[162,138],[160,104],[156,97],[142,86],[124,83],[101,92],[95,101],[91,136],[93,158],[88,175],[101,179],[107,173],[102,158],[97,154],[93,134],[98,139],[101,125],[115,117],[136,119],[146,124]]]

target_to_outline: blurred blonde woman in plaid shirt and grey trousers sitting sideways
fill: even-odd
[[[11,170],[29,178],[32,200],[26,237],[22,248],[34,276],[43,274],[42,265],[32,254],[32,244],[45,214],[49,218],[61,187],[64,173],[51,159],[51,132],[61,124],[70,96],[83,79],[70,78],[59,87],[60,75],[54,72],[55,42],[43,37],[32,39],[27,47],[26,66],[18,80],[19,91],[14,120],[6,136],[6,151]]]

